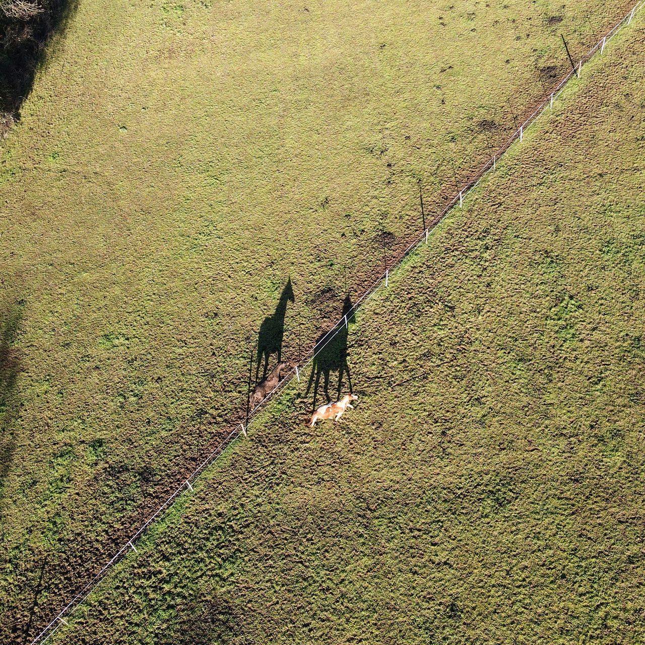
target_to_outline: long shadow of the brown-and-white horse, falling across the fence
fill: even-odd
[[[341,398],[342,379],[344,376],[347,377],[350,393],[352,392],[352,375],[347,362],[347,339],[349,325],[354,320],[352,299],[349,295],[346,295],[342,303],[341,321],[332,330],[320,335],[315,344],[312,373],[307,384],[307,391],[304,394],[305,397],[308,397],[313,385],[313,410],[316,409],[321,376],[323,377],[323,393],[327,402],[332,400],[329,394],[329,381],[332,372],[338,372],[336,399]]]

